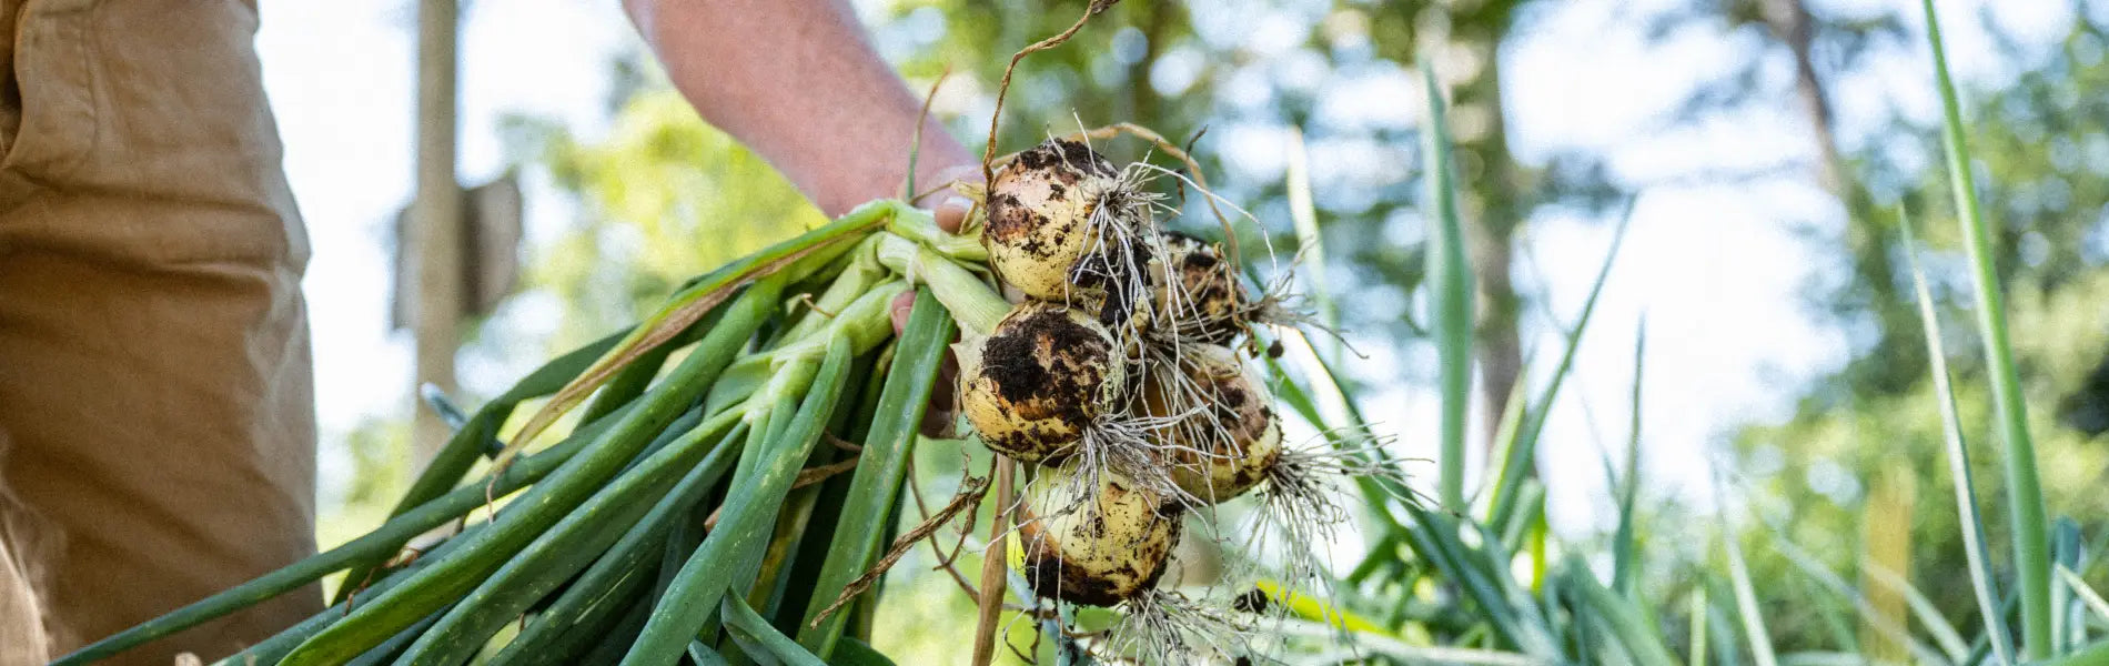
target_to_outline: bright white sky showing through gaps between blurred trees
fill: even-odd
[[[1504,95],[1518,158],[1540,160],[1561,148],[1603,150],[1622,177],[1643,181],[1675,181],[1694,164],[1723,160],[1812,158],[1805,129],[1786,101],[1734,122],[1645,131],[1694,80],[1729,67],[1738,51],[1700,36],[1645,46],[1634,25],[1615,19],[1615,4],[1563,2],[1540,17],[1542,30],[1506,46]],[[1890,2],[1816,4],[1858,11]],[[1999,70],[1976,21],[1966,21],[1978,15],[1978,2],[1936,4],[1949,17],[1951,61],[1966,84],[2012,74]],[[1985,2],[1985,8],[2010,32],[2050,36],[2071,21],[2060,4]],[[361,422],[401,417],[411,407],[409,335],[388,329],[388,221],[411,194],[415,4],[264,0],[262,17],[257,51],[266,91],[287,148],[285,169],[314,240],[304,289],[314,327],[327,504],[350,472],[344,436]],[[1917,13],[1909,13],[1907,23],[1919,34]],[[1251,40],[1270,40],[1270,34],[1253,30]],[[559,118],[580,137],[601,135],[607,63],[633,46],[635,34],[614,0],[472,2],[460,48],[462,179],[477,183],[506,166],[498,137],[504,114]],[[1767,63],[1767,74],[1784,65]],[[1835,80],[1843,139],[1866,141],[1852,129],[1892,105],[1934,122],[1938,107],[1928,76],[1926,55],[1907,51]],[[1356,103],[1339,112],[1417,116],[1419,91],[1411,80],[1379,76],[1356,91]],[[1240,156],[1240,164],[1282,162],[1286,129],[1225,135],[1227,145],[1219,150]],[[527,194],[529,242],[553,238],[572,207],[531,173]],[[1567,398],[1548,424],[1546,440],[1561,445],[1542,451],[1544,468],[1588,470],[1552,474],[1550,512],[1563,531],[1607,527],[1599,525],[1607,518],[1607,493],[1603,474],[1594,472],[1601,449],[1592,443],[1615,449],[1626,438],[1634,335],[1643,318],[1643,476],[1653,478],[1645,487],[1658,497],[1704,497],[1698,478],[1706,476],[1706,455],[1727,432],[1738,424],[1782,419],[1805,381],[1847,358],[1843,333],[1812,320],[1801,303],[1803,285],[1835,268],[1782,221],[1835,226],[1837,217],[1835,204],[1801,173],[1731,188],[1670,183],[1639,198],[1563,392]],[[1599,219],[1540,215],[1521,244],[1518,257],[1527,259],[1518,287],[1542,289],[1544,312],[1565,325],[1580,312],[1609,247],[1609,230]],[[553,329],[546,316],[534,316],[534,299],[517,301],[506,320],[523,329],[521,337],[538,327]],[[1531,314],[1527,346],[1556,350],[1559,337],[1544,312]],[[462,379],[475,394],[494,394],[542,356],[542,348],[534,348],[515,360],[470,358]],[[1371,358],[1386,360],[1384,354]],[[1415,449],[1434,438],[1428,390],[1394,386],[1371,394],[1369,405],[1390,407],[1375,417],[1384,417],[1409,451],[1432,455],[1430,447]]]

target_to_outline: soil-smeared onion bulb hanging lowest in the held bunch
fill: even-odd
[[[1118,472],[1092,483],[1080,466],[1042,468],[1025,487],[1010,565],[1042,599],[1122,603],[1158,584],[1179,544],[1179,514],[1162,508]]]

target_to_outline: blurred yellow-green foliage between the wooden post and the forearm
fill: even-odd
[[[656,72],[635,61],[614,70],[635,86],[618,86],[605,139],[580,143],[538,118],[508,122],[519,160],[580,202],[578,221],[536,249],[527,274],[531,289],[559,295],[565,327],[582,327],[559,331],[553,350],[607,335],[610,322],[637,318],[681,280],[827,221],[768,162],[702,124]]]

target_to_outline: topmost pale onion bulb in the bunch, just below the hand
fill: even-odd
[[[1092,249],[1090,215],[1116,188],[1114,162],[1084,143],[1048,139],[1021,152],[989,183],[983,242],[995,276],[1036,299],[1095,295],[1073,272]]]

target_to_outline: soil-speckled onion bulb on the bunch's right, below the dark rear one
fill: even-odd
[[[1183,493],[1223,502],[1268,478],[1282,455],[1282,419],[1265,381],[1236,352],[1219,346],[1183,346],[1181,379],[1152,377],[1145,409],[1179,417],[1164,430],[1170,481]]]

